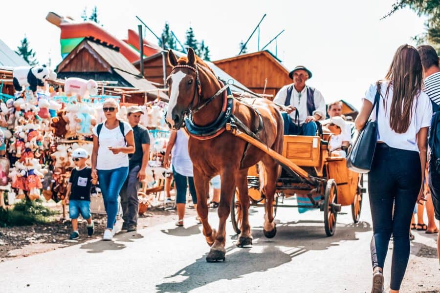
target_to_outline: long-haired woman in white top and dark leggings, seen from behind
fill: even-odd
[[[400,46],[384,80],[367,90],[355,124],[361,130],[373,109],[376,92],[378,138],[368,175],[374,235],[372,293],[382,293],[383,267],[393,234],[391,293],[398,293],[410,254],[409,229],[416,202],[424,200],[427,136],[432,117],[429,97],[422,91],[420,56],[410,45]]]

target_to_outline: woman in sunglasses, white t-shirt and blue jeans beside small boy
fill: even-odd
[[[129,171],[128,154],[134,153],[135,146],[132,126],[116,118],[116,100],[107,99],[102,109],[107,120],[93,128],[92,178],[99,180],[107,212],[103,240],[111,240],[116,232],[119,192]]]

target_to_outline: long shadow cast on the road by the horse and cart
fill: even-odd
[[[338,225],[335,235],[326,237],[322,221],[298,221],[279,224],[277,230],[275,238],[266,239],[263,229],[253,229],[254,247],[261,246],[262,251],[251,252],[250,248],[237,249],[231,246],[226,249],[226,262],[216,264],[207,263],[204,255],[167,277],[179,277],[180,280],[183,276],[185,280],[159,284],[156,286],[157,292],[188,292],[222,279],[231,280],[252,272],[264,272],[288,263],[307,251],[326,250],[339,245],[338,242],[358,240],[356,233],[370,231],[372,228],[366,222]],[[231,238],[236,239],[236,235]],[[281,251],[280,247],[289,249]]]

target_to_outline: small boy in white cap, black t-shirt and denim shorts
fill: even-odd
[[[81,213],[83,219],[87,220],[87,234],[93,235],[94,227],[90,215],[90,188],[91,168],[87,167],[88,153],[84,148],[77,148],[72,152],[75,168],[69,178],[65,203],[69,205],[69,217],[72,220],[73,232],[70,239],[78,239],[78,216]]]

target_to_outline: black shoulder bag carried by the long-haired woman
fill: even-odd
[[[365,124],[359,132],[350,152],[347,156],[347,167],[357,173],[370,172],[373,163],[374,151],[377,144],[377,116],[379,113],[380,84],[377,84],[376,95],[374,96],[374,107],[376,108],[376,119],[371,119]],[[371,115],[371,113],[370,113]]]

